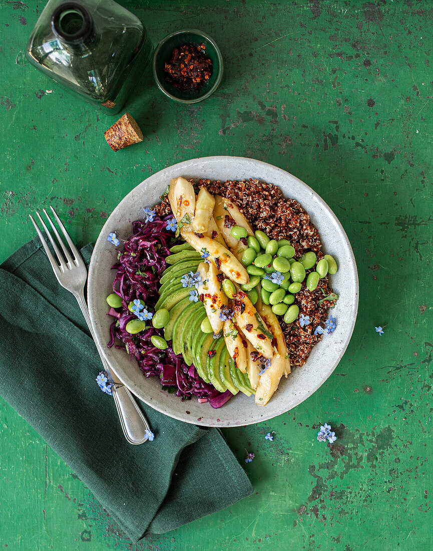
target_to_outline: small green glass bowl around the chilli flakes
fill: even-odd
[[[212,60],[212,75],[198,90],[182,92],[165,80],[165,63],[170,59],[173,48],[183,44],[192,44],[193,46],[204,44],[206,46],[205,56]],[[219,47],[209,35],[196,29],[183,29],[167,35],[156,46],[153,55],[153,76],[156,85],[167,98],[183,104],[197,103],[209,98],[210,94],[213,94],[218,88],[223,78],[223,56],[221,56]]]

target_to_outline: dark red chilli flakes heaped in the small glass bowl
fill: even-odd
[[[212,60],[205,56],[204,44],[183,44],[173,48],[170,60],[165,63],[165,80],[178,90],[198,90],[212,75]]]

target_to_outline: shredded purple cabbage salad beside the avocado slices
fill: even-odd
[[[111,338],[107,346],[125,349],[131,360],[137,360],[146,377],[159,377],[164,390],[176,392],[182,400],[197,396],[199,402],[209,402],[210,406],[218,408],[232,397],[231,392],[221,393],[205,383],[194,365],[188,366],[182,354],[174,353],[171,341],[165,350],[156,348],[150,337],[164,337],[163,329],[154,328],[149,321],[149,326],[140,333],[126,331],[126,324],[137,317],[128,310],[129,302],[141,299],[149,312],[155,311],[159,280],[166,268],[165,257],[170,255],[169,247],[175,242],[173,232],[166,225],[166,220],[159,217],[153,222],[136,220],[132,223],[133,234],[125,241],[123,251],[118,252],[118,263],[112,266],[116,270],[113,290],[121,297],[122,306],[110,308],[109,315],[116,319],[110,326]],[[116,338],[122,344],[116,344]]]

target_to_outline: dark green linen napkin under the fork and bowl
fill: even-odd
[[[91,251],[90,245],[82,250],[86,263]],[[57,283],[39,241],[2,264],[0,286],[0,395],[133,542],[252,493],[217,429],[171,419],[139,402],[155,439],[128,444],[112,397],[95,381],[101,363],[78,304]]]

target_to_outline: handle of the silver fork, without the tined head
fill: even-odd
[[[148,440],[148,436],[145,431],[150,430],[147,419],[144,417],[142,410],[137,406],[137,402],[134,400],[129,388],[123,385],[117,387],[117,385],[122,383],[112,374],[110,366],[102,353],[101,347],[95,339],[93,327],[90,321],[89,310],[84,300],[84,293],[82,292],[75,295],[75,298],[77,299],[80,310],[83,312],[83,316],[90,329],[91,336],[95,341],[102,365],[104,365],[105,371],[110,374],[110,377],[114,383],[111,387],[111,391],[113,393],[117,413],[120,418],[123,434],[129,444],[143,444],[143,442]]]

